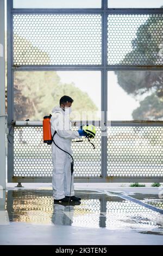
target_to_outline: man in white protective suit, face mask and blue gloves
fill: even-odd
[[[78,131],[71,130],[71,121],[69,115],[71,113],[71,105],[73,99],[69,96],[62,96],[60,106],[54,107],[51,117],[51,132],[55,144],[61,149],[72,155],[71,141],[80,136],[86,136],[86,132],[82,129]],[[81,198],[74,196],[74,174],[72,175],[71,186],[71,156],[59,149],[54,142],[52,143],[52,162],[53,162],[53,199],[55,202],[80,201]]]

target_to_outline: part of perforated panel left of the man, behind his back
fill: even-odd
[[[42,127],[15,127],[14,176],[52,176],[51,146],[42,136]]]

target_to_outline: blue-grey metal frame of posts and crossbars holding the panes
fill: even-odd
[[[13,15],[14,14],[101,14],[102,15],[102,63],[101,65],[13,65]],[[13,0],[7,1],[8,26],[8,127],[9,140],[13,140],[15,71],[101,71],[101,110],[104,111],[103,125],[108,124],[108,71],[114,70],[163,70],[162,65],[108,65],[108,15],[109,14],[163,14],[163,8],[108,8],[108,0],[102,0],[102,8],[66,9],[13,9]],[[17,126],[20,126],[20,124]],[[40,126],[40,125],[39,125]],[[111,126],[163,126],[163,121],[111,121]],[[103,131],[104,132],[104,131]],[[76,182],[161,182],[162,177],[116,177],[107,176],[107,138],[102,136],[101,175],[102,178],[75,178]],[[52,182],[51,178],[14,177],[14,145],[8,142],[8,182]]]

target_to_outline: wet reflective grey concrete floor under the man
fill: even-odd
[[[76,190],[82,201],[69,205],[53,204],[49,188],[9,190],[5,196],[0,244],[163,244],[163,199],[157,193]],[[35,239],[42,232],[45,240]],[[66,232],[76,236],[63,237]]]

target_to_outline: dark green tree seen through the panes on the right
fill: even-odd
[[[133,50],[126,54],[120,64],[162,63],[163,44],[161,36],[159,37],[162,34],[162,26],[162,16],[149,15],[148,20],[137,29],[136,38],[132,41]],[[133,119],[163,118],[163,72],[116,71],[115,74],[120,86],[131,96],[151,93],[151,96],[147,96],[140,102],[140,107],[135,109]]]

